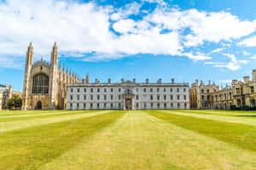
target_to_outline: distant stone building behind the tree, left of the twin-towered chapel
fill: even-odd
[[[9,109],[8,100],[11,99],[13,95],[18,95],[20,96],[20,98],[22,98],[22,93],[18,91],[14,91],[12,85],[9,85],[9,86],[8,84],[0,85],[0,92],[2,94],[2,101],[1,101],[2,109]]]

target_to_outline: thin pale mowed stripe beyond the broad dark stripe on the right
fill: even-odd
[[[184,111],[159,111],[164,113],[171,113],[175,115],[180,116],[191,116],[191,117],[197,117],[202,119],[209,119],[209,120],[216,120],[216,121],[222,121],[222,122],[235,122],[235,123],[242,123],[247,124],[251,126],[256,126],[256,119],[253,118],[243,118],[241,116],[218,116],[218,115],[212,115],[212,114],[196,114],[196,113],[189,113]]]

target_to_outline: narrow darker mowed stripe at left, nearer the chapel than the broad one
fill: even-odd
[[[91,111],[67,111],[67,112],[57,112],[57,113],[49,113],[49,114],[38,114],[37,115],[24,115],[24,116],[13,116],[13,117],[0,117],[0,122],[14,122],[14,121],[23,121],[23,120],[32,120],[38,118],[45,117],[55,117],[55,116],[68,116],[68,115],[79,115],[90,113]],[[94,111],[98,112],[98,111]]]

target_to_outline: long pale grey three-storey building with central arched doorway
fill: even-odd
[[[122,81],[67,86],[68,110],[148,110],[189,109],[189,83]]]

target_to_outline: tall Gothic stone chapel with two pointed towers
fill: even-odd
[[[26,52],[26,68],[23,83],[22,109],[65,109],[67,84],[79,83],[80,77],[65,66],[58,66],[58,48],[52,48],[50,63],[43,59],[33,63],[32,42]]]

